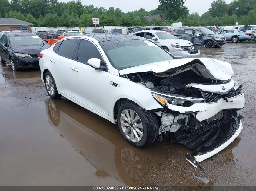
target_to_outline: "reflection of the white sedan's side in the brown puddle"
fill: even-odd
[[[142,163],[136,148],[121,137],[117,125],[68,100],[48,99],[45,106],[50,125],[98,169],[97,177],[114,177],[125,185],[140,180]]]

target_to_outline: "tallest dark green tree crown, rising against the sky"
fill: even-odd
[[[159,0],[158,9],[165,12],[167,19],[176,20],[179,17],[188,16],[188,8],[184,6],[185,0]]]

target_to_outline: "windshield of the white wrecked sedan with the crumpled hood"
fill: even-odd
[[[111,65],[118,69],[172,60],[165,50],[146,39],[100,42]]]

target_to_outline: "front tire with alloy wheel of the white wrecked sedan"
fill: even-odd
[[[153,143],[158,135],[155,113],[148,113],[133,102],[122,104],[118,110],[118,126],[123,137],[135,147]]]

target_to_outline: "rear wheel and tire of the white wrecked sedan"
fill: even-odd
[[[61,95],[58,94],[55,81],[52,77],[52,74],[49,71],[45,73],[44,81],[45,81],[46,91],[51,98],[57,99],[61,97]]]

